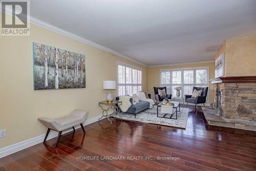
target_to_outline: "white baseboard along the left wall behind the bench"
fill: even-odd
[[[88,125],[88,124],[91,124],[93,122],[96,122],[96,121],[98,121],[99,118],[101,118],[101,116],[102,115],[93,117],[91,119],[88,119],[86,122],[83,123],[83,125]],[[79,129],[79,128],[80,128],[80,126],[75,127],[75,129]],[[68,132],[71,132],[71,131],[73,131],[73,129],[67,130],[67,131],[63,132],[62,134],[65,134],[65,133],[68,133]],[[8,156],[8,155],[13,154],[13,153],[16,153],[18,151],[21,151],[21,150],[23,150],[25,148],[28,148],[28,147],[31,147],[33,145],[39,144],[39,143],[44,141],[45,136],[46,136],[46,134],[39,135],[37,137],[30,138],[28,140],[21,141],[21,142],[18,142],[18,143],[0,148],[0,158]],[[48,135],[47,140],[55,138],[57,136],[58,136],[58,133],[55,132],[55,131],[52,131]]]

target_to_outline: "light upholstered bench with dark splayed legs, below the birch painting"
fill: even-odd
[[[75,110],[68,116],[64,116],[64,117],[60,117],[60,118],[56,118],[56,119],[51,119],[51,118],[46,118],[46,117],[38,118],[38,120],[48,128],[44,143],[46,142],[46,139],[51,130],[57,131],[59,133],[58,138],[55,143],[55,147],[57,147],[59,137],[63,130],[66,130],[66,129],[69,129],[72,127],[75,132],[74,126],[80,124],[83,133],[86,133],[84,131],[82,123],[84,123],[86,121],[88,115],[89,115],[89,112],[87,112],[87,111]]]

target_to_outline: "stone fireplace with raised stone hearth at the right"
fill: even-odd
[[[256,77],[220,77],[212,108],[203,108],[210,125],[256,131]],[[219,113],[219,114],[218,114]]]

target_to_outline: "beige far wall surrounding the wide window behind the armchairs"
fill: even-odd
[[[215,63],[197,63],[191,65],[179,65],[179,66],[165,66],[148,68],[148,92],[154,97],[153,87],[160,86],[160,70],[165,69],[180,69],[180,68],[196,68],[196,67],[209,67],[209,79],[215,77]],[[209,102],[213,101],[213,84],[209,83]]]

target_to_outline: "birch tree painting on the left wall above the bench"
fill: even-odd
[[[86,88],[85,56],[33,42],[34,90]]]

